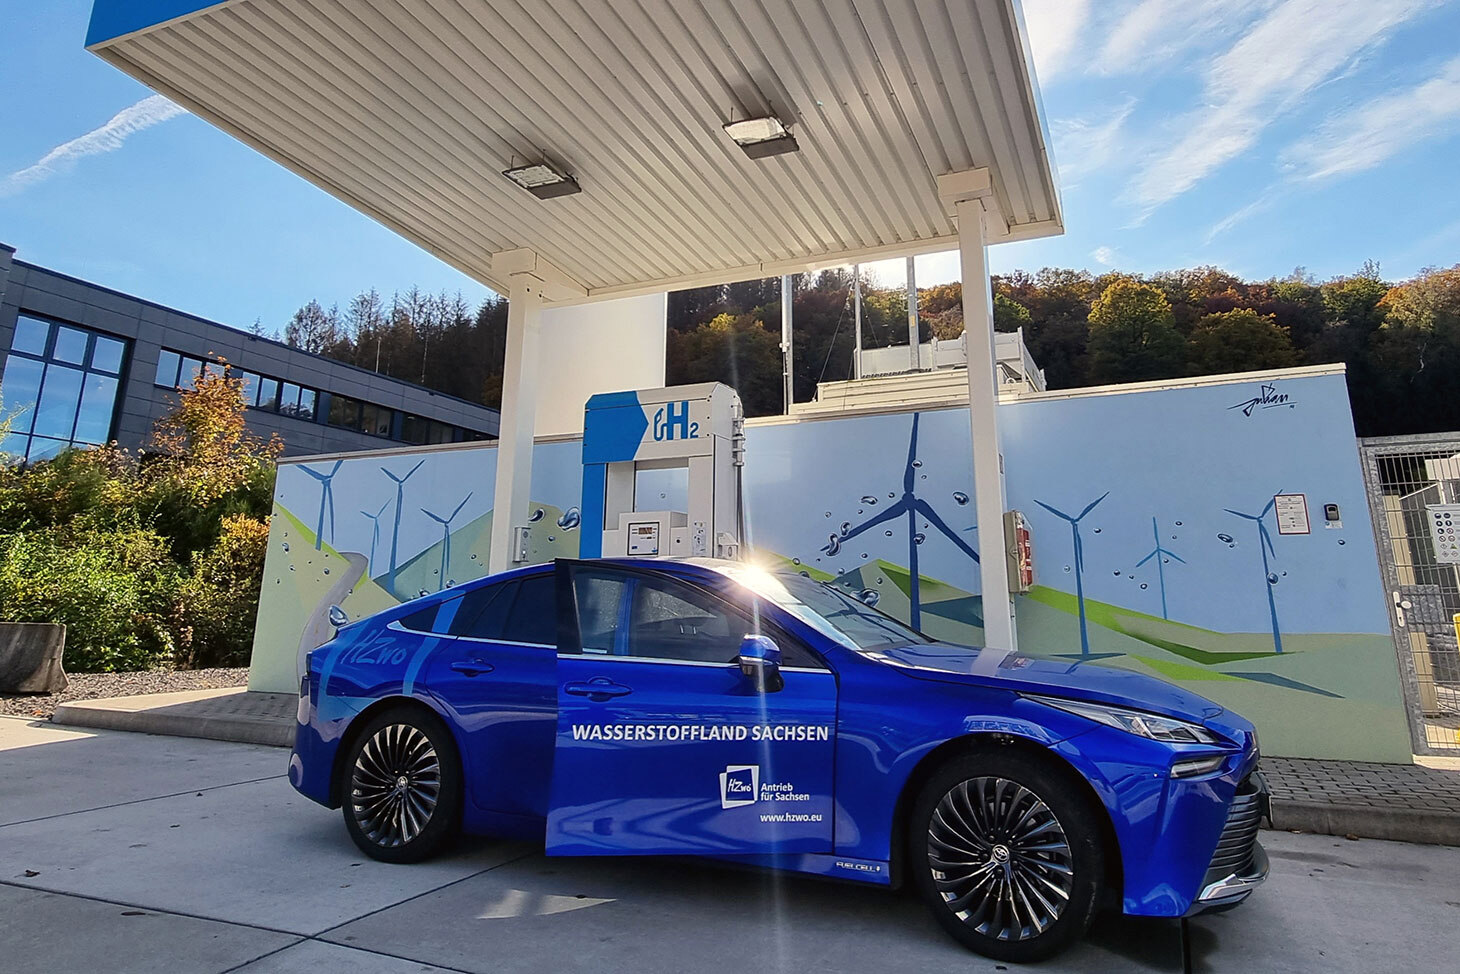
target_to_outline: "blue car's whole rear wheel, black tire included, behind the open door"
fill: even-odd
[[[369,718],[340,767],[345,828],[371,859],[418,863],[461,824],[461,759],[451,732],[420,707]]]

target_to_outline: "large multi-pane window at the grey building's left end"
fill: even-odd
[[[0,454],[35,461],[107,442],[126,356],[120,339],[20,315],[0,377],[0,413],[13,415]]]

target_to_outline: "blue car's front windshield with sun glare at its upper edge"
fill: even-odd
[[[822,635],[848,650],[876,650],[930,643],[917,629],[879,612],[850,593],[799,572],[765,571],[750,565],[718,567],[755,594],[774,602]]]

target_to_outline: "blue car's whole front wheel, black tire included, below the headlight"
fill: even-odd
[[[1105,876],[1098,812],[1073,772],[1013,748],[953,758],[923,786],[908,869],[939,924],[1016,964],[1085,936]]]

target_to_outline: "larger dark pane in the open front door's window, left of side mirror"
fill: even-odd
[[[707,593],[660,578],[638,578],[629,607],[628,654],[694,663],[730,663],[750,619]]]

